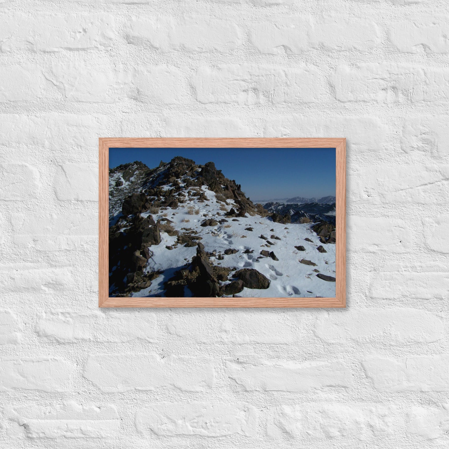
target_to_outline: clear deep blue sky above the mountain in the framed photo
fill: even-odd
[[[141,161],[154,168],[175,156],[214,162],[254,200],[335,195],[335,148],[110,148],[109,167]]]

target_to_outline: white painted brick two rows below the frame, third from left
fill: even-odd
[[[229,359],[226,367],[229,379],[246,391],[306,392],[352,383],[350,370],[340,360],[295,362],[248,356]]]

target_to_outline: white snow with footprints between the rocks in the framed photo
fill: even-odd
[[[198,188],[195,188],[198,189]],[[194,190],[191,188],[190,190]],[[185,203],[180,203],[176,209],[161,210],[158,214],[152,214],[154,220],[166,216],[172,227],[180,232],[185,232],[182,228],[192,228],[198,231],[202,237],[200,242],[205,247],[205,251],[216,251],[216,254],[224,254],[225,249],[235,248],[236,254],[224,255],[224,260],[218,260],[211,257],[211,263],[223,267],[242,269],[252,268],[263,273],[271,281],[268,289],[252,290],[245,288],[237,296],[242,297],[335,297],[335,282],[327,282],[318,278],[313,269],[318,269],[320,273],[335,277],[335,244],[324,244],[326,253],[317,251],[321,245],[316,233],[311,229],[310,224],[281,224],[274,223],[269,217],[247,216],[244,218],[233,218],[225,216],[225,211],[220,210],[223,203],[216,202],[214,192],[202,186],[207,201],[199,202],[198,197],[186,197]],[[186,191],[185,191],[186,192]],[[237,208],[232,200],[227,201],[226,209]],[[198,215],[190,215],[189,207],[199,209]],[[217,212],[220,215],[216,215]],[[206,216],[203,216],[206,214]],[[142,214],[142,216],[150,215]],[[219,221],[223,218],[228,220],[223,225],[201,227],[200,224],[207,218],[214,218]],[[185,221],[188,220],[188,221]],[[246,231],[245,228],[252,227],[253,231]],[[270,231],[270,229],[274,229]],[[274,243],[273,246],[266,247],[265,240],[260,238],[263,234]],[[271,235],[279,237],[281,240],[270,238]],[[153,245],[149,249],[153,255],[148,260],[145,272],[163,271],[163,273],[152,281],[152,285],[144,290],[132,293],[135,297],[145,296],[164,296],[163,283],[173,274],[182,268],[185,268],[192,257],[196,254],[196,247],[178,246],[168,250],[166,246],[173,246],[176,242],[176,236],[171,237],[167,233],[161,232],[162,242],[159,245]],[[313,241],[307,242],[304,239],[309,238]],[[306,251],[297,251],[295,246],[302,245]],[[246,249],[254,250],[252,254],[244,254]],[[279,259],[272,260],[269,257],[257,259],[261,250],[274,251]],[[299,263],[299,260],[311,260],[317,266],[309,266]],[[231,278],[230,273],[229,278]],[[222,284],[226,282],[221,282]],[[186,288],[186,295],[189,291]]]

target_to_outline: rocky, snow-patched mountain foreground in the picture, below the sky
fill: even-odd
[[[335,296],[335,226],[291,225],[213,162],[135,161],[109,188],[112,296]]]

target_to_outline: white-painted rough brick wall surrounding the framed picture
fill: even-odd
[[[0,447],[448,447],[448,17],[0,0]],[[98,310],[99,136],[347,137],[348,308]]]

